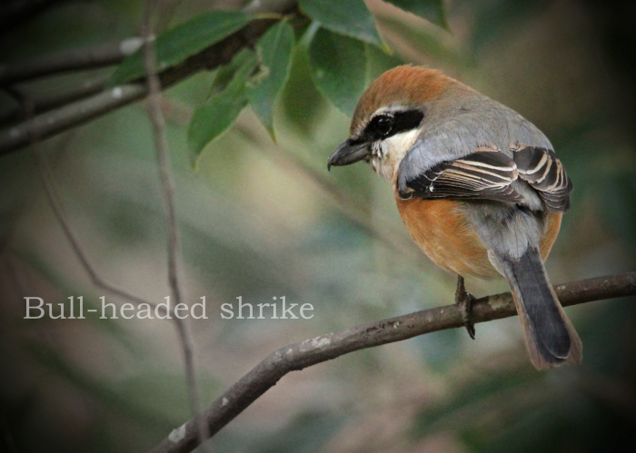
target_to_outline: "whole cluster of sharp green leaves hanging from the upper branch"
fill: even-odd
[[[447,27],[441,0],[387,3]],[[298,4],[309,25],[294,31],[289,18],[281,17],[254,49],[243,49],[217,71],[210,96],[196,109],[189,126],[188,143],[194,165],[204,148],[224,133],[248,104],[275,140],[274,109],[295,52],[308,54],[313,83],[347,115],[353,114],[369,77],[377,75],[370,73],[401,63],[383,41],[363,0],[300,0]],[[187,57],[258,18],[259,15],[241,12],[215,11],[175,26],[156,37],[157,69],[164,71],[182,64]],[[139,50],[119,65],[112,82],[122,84],[143,76],[143,55]]]

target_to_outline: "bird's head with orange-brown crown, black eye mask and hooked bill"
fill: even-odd
[[[420,66],[398,66],[364,92],[353,113],[349,138],[329,157],[328,168],[371,162],[393,182],[404,154],[422,132],[431,104],[452,79]]]

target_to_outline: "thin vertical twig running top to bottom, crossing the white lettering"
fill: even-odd
[[[153,123],[154,147],[157,155],[157,166],[159,169],[159,179],[161,181],[162,198],[165,210],[165,228],[168,233],[167,254],[168,254],[168,284],[174,306],[178,306],[184,300],[180,284],[180,261],[181,247],[179,244],[179,231],[174,209],[174,182],[170,169],[170,151],[168,138],[165,134],[164,114],[161,111],[159,96],[161,95],[161,82],[157,76],[156,62],[154,59],[154,41],[150,39],[153,34],[152,17],[156,0],[147,0],[144,8],[144,21],[142,25],[142,35],[144,36],[144,67],[146,83],[148,85],[148,113]],[[197,432],[199,443],[203,443],[207,434],[207,425],[204,419],[197,417],[201,410],[199,402],[199,390],[196,382],[194,367],[193,342],[185,320],[174,317],[176,328],[179,333],[179,340],[184,351],[184,367],[187,380],[188,394],[190,397],[190,407],[194,419],[197,420]]]

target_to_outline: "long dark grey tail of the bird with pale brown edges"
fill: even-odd
[[[552,290],[539,251],[531,246],[518,260],[497,259],[512,290],[532,365],[549,369],[581,363],[581,339]]]

